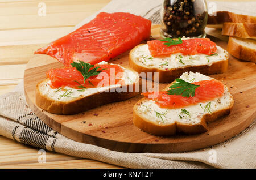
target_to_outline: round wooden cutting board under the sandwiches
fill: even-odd
[[[152,26],[152,37],[159,38],[159,25]],[[226,42],[210,37],[226,49]],[[111,63],[129,67],[129,52],[112,59]],[[208,132],[197,135],[159,137],[147,134],[133,125],[133,105],[142,96],[102,105],[76,115],[47,113],[35,104],[36,84],[46,78],[46,71],[62,67],[48,55],[36,54],[24,73],[24,91],[32,111],[57,132],[77,142],[98,145],[121,152],[171,153],[191,151],[224,142],[239,134],[256,118],[256,65],[230,55],[228,72],[211,75],[230,88],[234,108],[230,115],[208,124]],[[159,84],[159,88],[166,84]]]

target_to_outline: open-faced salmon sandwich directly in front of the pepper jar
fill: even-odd
[[[159,83],[170,83],[187,71],[205,75],[225,72],[228,53],[208,38],[166,38],[136,46],[129,63],[139,73],[152,72],[152,79]],[[158,80],[154,72],[159,73]]]

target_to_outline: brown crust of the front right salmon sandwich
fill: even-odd
[[[174,83],[174,82],[172,82]],[[171,83],[171,84],[172,84]],[[171,84],[168,84],[166,88],[163,89],[165,91]],[[133,123],[136,127],[140,128],[142,131],[147,132],[156,136],[171,136],[175,135],[177,132],[182,132],[184,134],[200,134],[203,132],[207,132],[207,123],[216,121],[218,118],[228,115],[233,108],[234,100],[232,97],[232,103],[226,109],[220,109],[217,112],[212,114],[205,114],[201,118],[201,122],[196,125],[188,125],[185,123],[170,123],[168,125],[160,125],[156,122],[152,122],[144,117],[137,111],[137,106],[139,106],[142,102],[148,101],[147,98],[142,98],[139,100],[133,108]]]

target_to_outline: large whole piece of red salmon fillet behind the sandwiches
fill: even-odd
[[[101,12],[82,27],[38,49],[65,66],[75,60],[96,64],[117,55],[150,38],[151,21],[125,12]]]

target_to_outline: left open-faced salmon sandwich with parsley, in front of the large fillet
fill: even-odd
[[[120,65],[73,62],[47,71],[36,87],[36,104],[54,114],[76,114],[137,95],[138,73]]]

